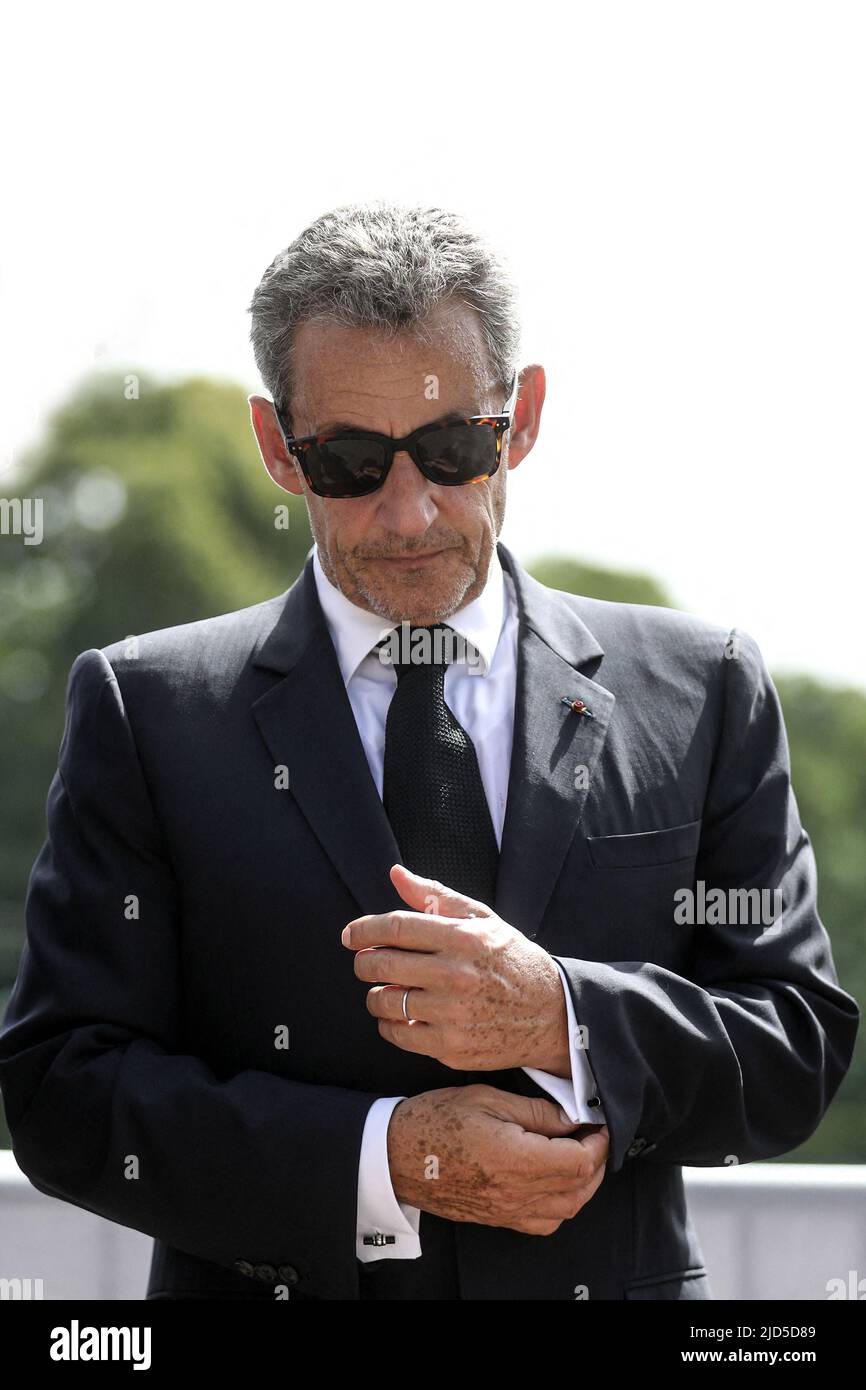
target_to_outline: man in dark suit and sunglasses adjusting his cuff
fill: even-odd
[[[0,1084],[150,1298],[712,1297],[681,1165],[796,1147],[849,1065],[753,639],[498,541],[509,324],[457,218],[307,228],[250,402],[300,578],[74,663]]]

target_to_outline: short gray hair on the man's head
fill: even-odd
[[[286,410],[300,322],[424,335],[436,306],[477,314],[493,385],[512,385],[520,349],[517,292],[507,261],[459,214],[384,199],[324,213],[268,265],[249,304],[261,379]]]

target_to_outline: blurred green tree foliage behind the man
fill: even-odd
[[[0,537],[0,1011],[21,951],[75,656],[282,594],[311,543],[303,502],[275,488],[261,464],[246,395],[203,378],[160,385],[142,377],[138,399],[118,374],[89,378],[53,416],[14,485],[6,475],[3,486],[43,499],[44,539],[26,546]],[[649,575],[562,556],[530,569],[552,588],[674,606]],[[866,695],[806,677],[777,684],[822,917],[842,984],[863,999]],[[863,1052],[796,1159],[866,1159]]]

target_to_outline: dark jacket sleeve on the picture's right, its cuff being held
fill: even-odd
[[[588,1029],[613,1172],[627,1158],[716,1166],[796,1148],[853,1052],[859,1009],[838,986],[817,915],[778,696],[753,638],[733,635],[691,887],[721,888],[726,902],[730,890],[778,890],[763,902],[783,910],[765,924],[755,894],[748,912],[708,903],[706,923],[692,927],[688,976],[645,960],[557,958]]]

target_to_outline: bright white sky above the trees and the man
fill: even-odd
[[[320,213],[456,207],[548,374],[503,539],[866,687],[865,72],[856,0],[15,7],[0,492],[95,366],[260,389],[246,306]]]

